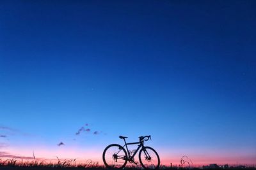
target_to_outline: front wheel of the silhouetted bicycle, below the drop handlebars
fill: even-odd
[[[145,169],[158,169],[160,166],[159,155],[156,150],[148,146],[140,150],[139,160],[141,166]]]

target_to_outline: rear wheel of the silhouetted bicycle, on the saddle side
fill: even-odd
[[[107,146],[102,155],[106,167],[123,168],[127,164],[127,152],[118,144]]]

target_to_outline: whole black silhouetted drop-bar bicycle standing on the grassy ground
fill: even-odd
[[[125,136],[119,136],[120,139],[124,139],[124,146],[118,144],[111,144],[107,146],[103,152],[102,158],[106,167],[123,168],[126,166],[127,161],[133,164],[138,164],[134,161],[134,156],[139,152],[139,160],[142,167],[145,169],[158,169],[160,165],[159,155],[156,150],[149,146],[144,146],[144,141],[151,140],[151,136],[140,136],[139,142],[126,143]],[[127,145],[138,145],[136,150],[129,152]],[[125,150],[126,149],[126,150]],[[127,154],[128,152],[128,154]]]

